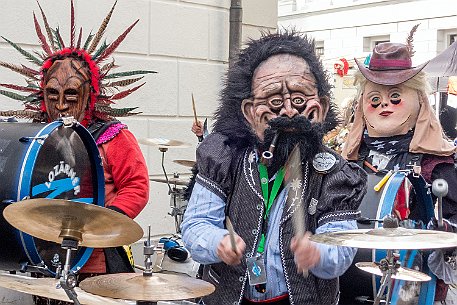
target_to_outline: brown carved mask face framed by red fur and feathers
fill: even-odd
[[[56,60],[44,80],[44,102],[49,118],[54,121],[72,116],[81,122],[90,97],[88,69],[74,58]]]

